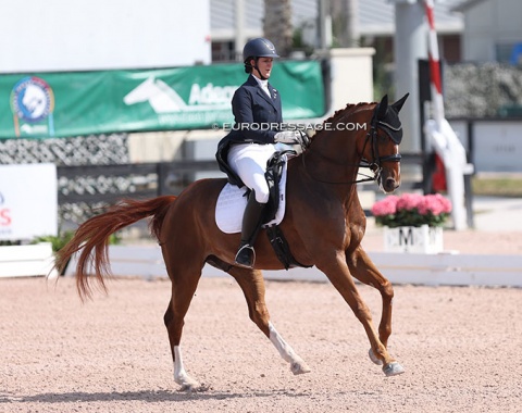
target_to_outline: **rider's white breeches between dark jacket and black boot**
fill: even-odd
[[[256,192],[259,203],[269,202],[269,185],[264,173],[268,160],[276,150],[272,143],[240,143],[234,145],[228,151],[228,165]]]

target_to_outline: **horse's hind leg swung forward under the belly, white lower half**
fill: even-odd
[[[272,341],[283,360],[290,363],[290,371],[294,374],[309,373],[310,367],[295,353],[270,322],[269,310],[264,301],[264,280],[261,271],[232,267],[228,273],[241,287],[247,299],[250,320]]]

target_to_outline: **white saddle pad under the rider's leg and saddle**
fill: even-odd
[[[283,174],[279,180],[279,205],[275,214],[275,218],[263,224],[263,227],[277,225],[285,216],[285,197],[286,197],[286,167],[287,162],[283,166]],[[226,184],[217,198],[215,206],[215,223],[225,234],[236,234],[241,231],[243,213],[247,206],[247,197],[245,192],[247,187],[238,188],[235,185]]]

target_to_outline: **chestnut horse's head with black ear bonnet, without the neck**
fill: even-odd
[[[378,187],[386,193],[400,185],[399,143],[402,140],[402,125],[399,112],[408,95],[389,105],[385,96],[375,105],[362,149],[362,158],[374,172]]]

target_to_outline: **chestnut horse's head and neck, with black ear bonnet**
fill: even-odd
[[[376,180],[384,192],[397,189],[402,139],[399,111],[407,98],[408,93],[388,105],[385,96],[380,103],[348,104],[335,112],[303,152],[302,165],[308,175],[324,184]],[[374,176],[358,180],[361,166],[370,167]]]

